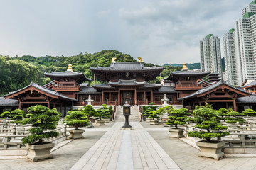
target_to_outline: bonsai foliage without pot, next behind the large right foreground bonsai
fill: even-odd
[[[186,124],[187,115],[191,115],[191,113],[188,113],[186,108],[174,109],[171,111],[171,116],[168,117],[166,125],[174,125],[178,129],[178,125]]]

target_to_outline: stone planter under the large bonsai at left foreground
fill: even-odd
[[[28,155],[27,159],[31,162],[37,162],[41,159],[50,159],[53,158],[53,155],[50,154],[50,150],[54,147],[54,143],[43,142],[43,144],[33,145],[27,144]]]

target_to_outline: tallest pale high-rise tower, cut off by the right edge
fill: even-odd
[[[245,79],[256,79],[256,0],[242,9],[235,22],[235,59],[238,85]]]

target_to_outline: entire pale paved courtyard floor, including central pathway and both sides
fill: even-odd
[[[123,124],[86,128],[84,139],[56,149],[53,159],[3,159],[0,169],[256,169],[254,157],[197,157],[198,149],[170,138],[164,125],[132,122],[134,130],[120,130]]]

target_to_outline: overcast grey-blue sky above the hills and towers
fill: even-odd
[[[154,64],[199,62],[199,41],[213,33],[222,42],[251,1],[0,0],[0,54],[118,50]]]

